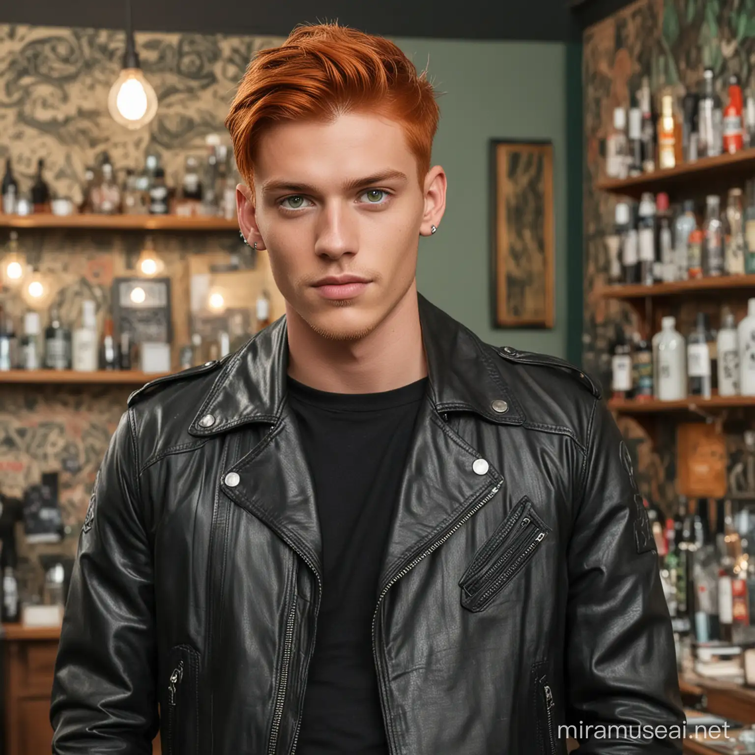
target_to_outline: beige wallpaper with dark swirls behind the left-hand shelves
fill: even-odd
[[[226,135],[223,119],[254,51],[281,41],[137,34],[142,67],[158,94],[159,110],[147,128],[133,132],[112,121],[106,104],[120,69],[123,32],[0,25],[0,172],[5,156],[11,156],[20,190],[27,192],[42,157],[54,196],[79,201],[85,168],[103,150],[116,171],[141,168],[149,150],[161,156],[168,184],[180,183],[186,155],[204,154],[206,134]],[[8,231],[0,229],[0,256],[7,239]],[[177,366],[177,350],[190,336],[190,276],[206,273],[213,261],[227,260],[229,251],[239,251],[240,240],[236,233],[164,232],[153,239],[171,278]],[[64,320],[74,322],[85,297],[97,301],[101,327],[112,278],[136,275],[126,252],[144,239],[131,232],[20,230],[19,241],[22,251],[39,253],[40,270],[51,288],[40,308],[44,328],[51,304],[61,307]],[[282,313],[266,255],[260,254],[252,269],[234,275],[236,294],[245,296],[243,306],[266,288],[273,297],[273,317]],[[29,302],[18,291],[0,287],[0,304],[16,317],[18,328]],[[130,390],[0,388],[0,494],[19,497],[42,473],[60,472],[60,504],[69,528],[63,544],[21,544],[26,556],[75,551],[94,475]]]

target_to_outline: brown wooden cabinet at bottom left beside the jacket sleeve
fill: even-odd
[[[49,755],[50,693],[60,631],[4,627],[5,755]],[[159,738],[153,755],[160,755]]]

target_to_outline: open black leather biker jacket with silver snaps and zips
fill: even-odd
[[[636,736],[683,712],[652,533],[598,388],[423,298],[420,314],[430,389],[372,627],[390,753],[553,755],[568,724],[580,755],[680,752]],[[57,755],[147,755],[158,727],[165,755],[295,752],[327,585],[287,359],[282,318],[129,399],[69,590]]]

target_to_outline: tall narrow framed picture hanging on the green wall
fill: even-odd
[[[553,328],[553,144],[491,141],[494,328]]]

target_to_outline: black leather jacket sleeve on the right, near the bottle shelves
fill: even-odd
[[[658,553],[627,446],[599,401],[581,479],[568,552],[570,735],[584,755],[680,753],[685,716]]]

